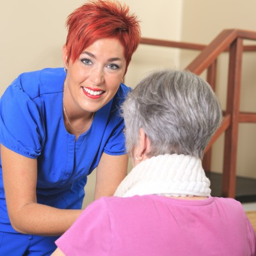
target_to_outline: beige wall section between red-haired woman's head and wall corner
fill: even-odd
[[[132,12],[141,20],[142,36],[165,40],[180,40],[182,1],[127,0]],[[150,70],[165,67],[179,68],[179,50],[140,45],[134,54],[125,81],[134,86]]]

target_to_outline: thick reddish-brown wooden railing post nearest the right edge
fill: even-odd
[[[237,38],[230,45],[228,68],[228,92],[226,115],[230,115],[230,126],[225,132],[222,195],[234,198],[236,195],[236,159],[241,90],[241,64],[243,39]]]

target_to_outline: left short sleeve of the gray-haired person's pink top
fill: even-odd
[[[88,205],[56,242],[65,255],[109,255],[111,227],[104,198]]]

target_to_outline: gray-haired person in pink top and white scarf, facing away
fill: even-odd
[[[212,197],[202,168],[221,123],[211,86],[186,71],[154,72],[122,108],[134,168],[56,241],[54,255],[255,255],[243,207]]]

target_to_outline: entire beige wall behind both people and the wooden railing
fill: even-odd
[[[208,44],[227,28],[256,31],[255,0],[121,0],[141,20],[142,36]],[[61,47],[67,31],[65,20],[82,0],[0,0],[0,95],[21,72],[61,67]],[[140,45],[125,77],[134,86],[147,72],[157,68],[184,68],[198,52]],[[245,54],[241,108],[255,107],[255,54]],[[218,96],[225,108],[227,56],[221,56]],[[254,174],[256,125],[241,125],[238,172]],[[250,134],[248,136],[248,134]],[[222,141],[214,147],[212,169],[222,170]],[[90,175],[84,205],[92,201],[95,172]]]

